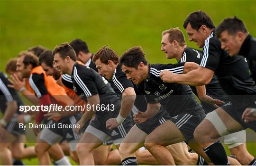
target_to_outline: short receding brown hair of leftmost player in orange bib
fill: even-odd
[[[34,55],[32,52],[21,51],[18,54],[18,58],[23,56],[24,56],[24,59],[23,59],[24,66],[27,66],[28,64],[31,64],[32,68],[39,66],[38,57]]]

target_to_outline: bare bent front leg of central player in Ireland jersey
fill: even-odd
[[[177,126],[167,120],[146,137],[145,146],[161,165],[175,165],[173,156],[165,146],[184,140]]]

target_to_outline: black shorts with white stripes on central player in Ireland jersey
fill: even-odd
[[[182,113],[177,116],[171,117],[172,121],[182,132],[185,137],[185,142],[188,143],[194,137],[195,128],[201,123],[205,118],[205,113],[190,115],[188,113]]]

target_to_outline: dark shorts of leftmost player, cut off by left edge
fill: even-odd
[[[17,122],[17,116],[18,114],[14,114],[10,119],[9,123],[7,124],[7,126],[5,127],[5,129],[9,133],[14,134],[15,136],[18,136],[19,134],[25,134],[25,130],[19,127],[19,124]]]

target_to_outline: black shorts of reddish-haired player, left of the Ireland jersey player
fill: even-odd
[[[136,124],[136,126],[146,134],[150,134],[153,132],[153,130],[155,130],[155,128],[157,128],[159,125],[162,125],[166,120],[170,118],[171,116],[169,116],[169,114],[166,112],[163,116],[158,116],[156,121],[155,119],[148,119],[145,123]]]

